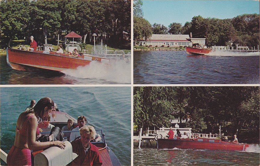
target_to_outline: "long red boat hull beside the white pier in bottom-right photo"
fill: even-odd
[[[158,139],[158,149],[211,149],[211,150],[237,150],[245,151],[249,144],[224,142],[221,140],[199,138],[190,139]]]

